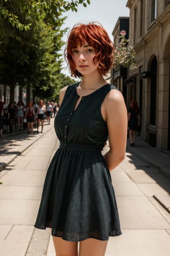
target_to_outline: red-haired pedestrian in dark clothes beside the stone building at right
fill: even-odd
[[[128,109],[128,128],[129,128],[129,138],[131,141],[132,147],[134,147],[134,142],[136,139],[136,131],[139,130],[140,127],[140,109],[138,107],[137,101],[131,101],[131,107]]]

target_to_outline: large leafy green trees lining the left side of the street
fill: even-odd
[[[90,4],[90,1],[87,1]],[[10,86],[10,101],[15,85],[29,85],[47,91],[55,85],[62,70],[58,54],[64,42],[61,30],[69,9],[77,11],[85,0],[1,0],[0,5],[0,83]],[[35,91],[38,91],[38,88]]]

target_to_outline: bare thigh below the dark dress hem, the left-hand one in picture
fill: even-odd
[[[50,228],[51,229],[51,228]],[[52,235],[56,256],[78,256],[78,242],[69,242]]]

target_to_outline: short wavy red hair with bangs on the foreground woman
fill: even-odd
[[[82,77],[81,73],[76,70],[72,60],[72,49],[77,48],[77,46],[82,47],[85,44],[84,40],[95,49],[93,63],[98,67],[100,75],[107,75],[113,66],[114,44],[103,26],[99,22],[97,23],[100,25],[95,23],[90,22],[87,25],[78,23],[69,32],[64,58],[67,62],[67,67],[69,66],[69,71],[71,71],[71,76]],[[96,59],[99,62],[98,65],[95,63]]]

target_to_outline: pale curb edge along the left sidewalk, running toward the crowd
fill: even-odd
[[[50,127],[46,132],[43,133],[43,136],[44,134],[48,133],[48,131],[50,131],[51,129],[53,129],[53,126]],[[14,154],[13,156],[11,156],[10,160],[6,163],[3,163],[1,166],[0,166],[0,172],[6,167],[8,166],[11,162],[14,161],[14,159],[19,156],[20,154],[22,154],[26,149],[28,149],[30,146],[32,146],[35,142],[37,142],[37,140],[39,140],[40,138],[42,138],[42,136],[39,136],[37,138],[35,138],[34,140],[32,140],[30,143],[28,143],[26,146],[23,146],[20,151],[17,152],[17,154]]]

